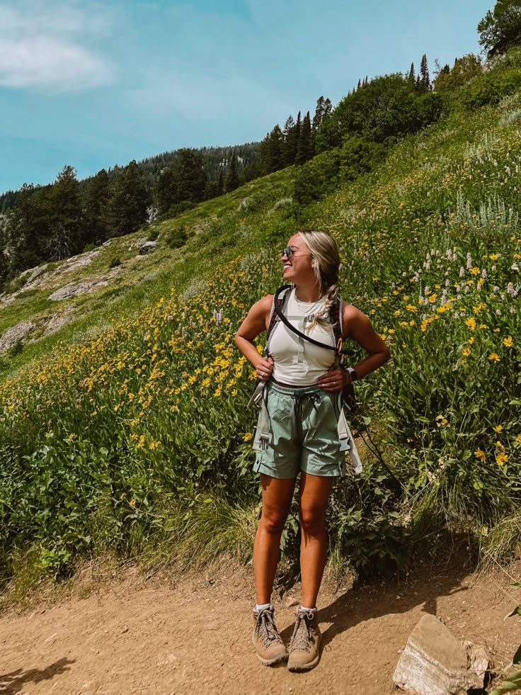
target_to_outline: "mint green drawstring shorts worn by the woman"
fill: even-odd
[[[272,478],[311,475],[345,476],[345,452],[340,451],[338,392],[320,386],[285,388],[273,381],[264,387],[270,417],[270,441],[256,451],[253,470]]]

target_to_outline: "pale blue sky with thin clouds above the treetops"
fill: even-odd
[[[359,77],[479,52],[494,0],[0,0],[0,191],[260,140]]]

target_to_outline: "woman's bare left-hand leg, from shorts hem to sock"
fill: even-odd
[[[263,485],[263,513],[253,546],[253,570],[257,603],[268,604],[277,571],[280,536],[290,511],[297,478],[272,478],[263,473],[260,478]]]

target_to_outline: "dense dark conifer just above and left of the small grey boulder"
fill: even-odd
[[[148,219],[149,194],[135,159],[120,170],[110,200],[113,236],[136,232]]]

